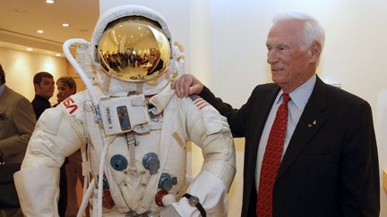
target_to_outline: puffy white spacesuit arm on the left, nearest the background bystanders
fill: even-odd
[[[82,121],[69,116],[63,104],[42,114],[30,138],[22,169],[13,175],[25,216],[59,216],[59,168],[64,157],[85,143]]]

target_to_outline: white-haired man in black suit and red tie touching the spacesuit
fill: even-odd
[[[172,85],[177,96],[200,94],[245,138],[242,216],[379,216],[371,106],[315,74],[323,44],[314,18],[276,17],[266,41],[274,83],[254,88],[240,109],[191,75]]]

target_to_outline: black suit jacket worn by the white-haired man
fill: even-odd
[[[255,216],[254,171],[265,121],[280,88],[257,86],[233,109],[208,88],[201,96],[245,137],[242,216]],[[317,78],[273,188],[273,217],[379,216],[379,168],[370,105]]]

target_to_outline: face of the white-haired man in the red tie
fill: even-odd
[[[272,80],[284,92],[291,92],[314,75],[315,57],[310,47],[302,47],[302,23],[281,21],[269,32],[267,62]]]

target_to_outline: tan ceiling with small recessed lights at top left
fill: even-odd
[[[0,3],[0,46],[40,54],[62,54],[69,38],[90,40],[99,0],[12,0]],[[69,23],[67,28],[62,23]],[[43,33],[37,30],[42,29]]]

